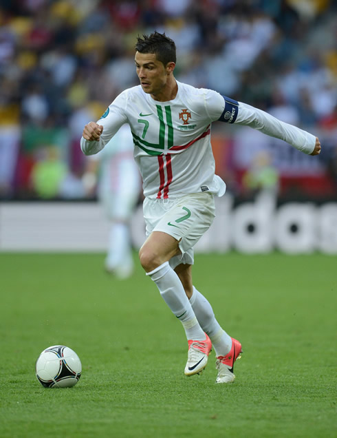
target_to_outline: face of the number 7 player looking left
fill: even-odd
[[[171,64],[174,67],[174,63],[168,63],[165,67],[157,61],[154,53],[135,53],[135,69],[145,93],[157,96],[164,92],[168,75],[173,71]]]

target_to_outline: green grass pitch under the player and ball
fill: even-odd
[[[136,254],[135,254],[136,258]],[[194,284],[243,345],[235,383],[215,355],[184,376],[187,342],[138,262],[0,254],[0,437],[336,437],[336,256],[196,255]],[[74,388],[43,388],[47,346],[80,356]]]

